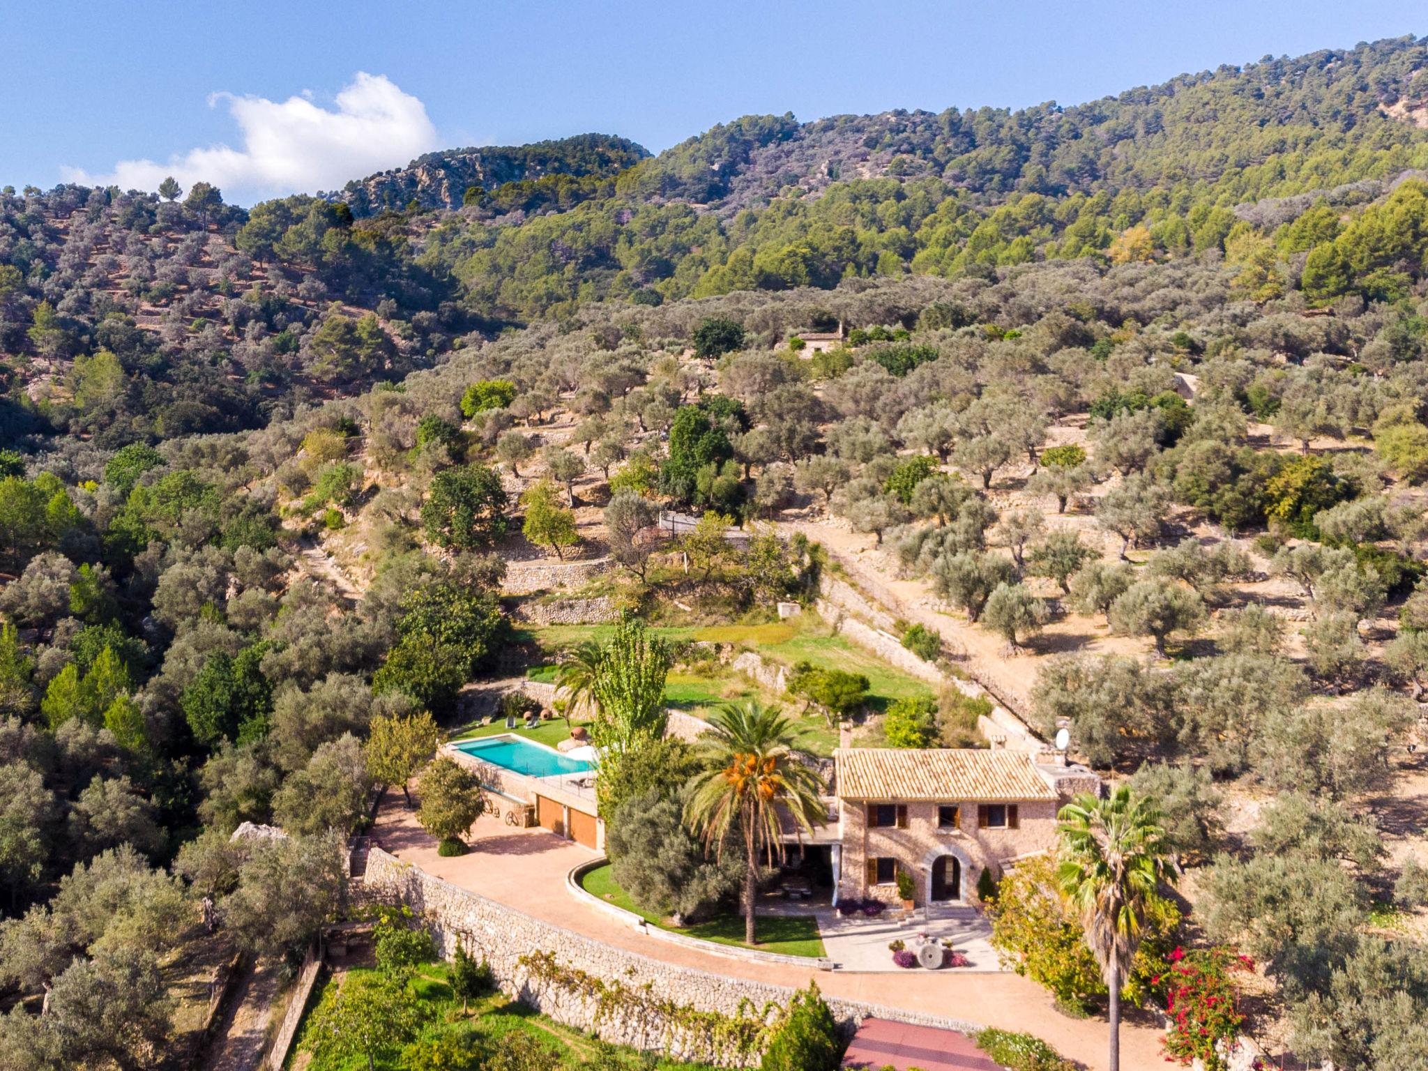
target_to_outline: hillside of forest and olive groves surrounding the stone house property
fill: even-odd
[[[3,191],[0,1068],[177,1065],[193,964],[300,954],[373,794],[561,654],[507,578],[573,554],[671,628],[814,617],[833,555],[912,593],[910,650],[1164,804],[1161,955],[1252,957],[1272,1055],[1422,1065],[1425,53],[250,210]],[[663,508],[704,520],[658,543]],[[788,668],[764,698],[835,735]],[[865,691],[863,740],[987,743]],[[635,810],[678,814],[665,758]],[[724,895],[671,821],[661,881]],[[1042,922],[1008,955],[1098,1008],[1080,920]]]

